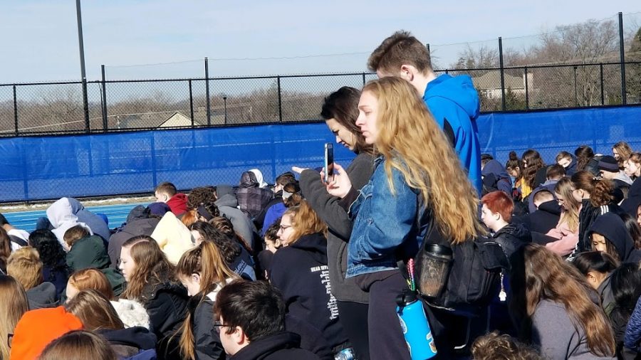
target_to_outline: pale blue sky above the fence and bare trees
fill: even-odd
[[[100,78],[101,64],[110,79],[202,77],[205,56],[210,76],[363,71],[370,51],[400,28],[430,43],[437,63],[447,65],[464,45],[444,44],[496,46],[503,36],[518,48],[557,25],[641,11],[637,0],[103,0],[82,6],[89,80]],[[641,25],[641,14],[625,19]],[[2,0],[0,23],[0,83],[80,78],[75,1]],[[341,53],[348,55],[304,57]],[[261,59],[215,60],[221,58]],[[174,62],[181,63],[130,66]]]

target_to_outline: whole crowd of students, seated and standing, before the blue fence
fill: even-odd
[[[424,301],[434,359],[641,358],[641,154],[504,166],[481,155],[469,77],[436,77],[410,33],[368,65],[379,80],[325,98],[356,155],[327,182],[165,182],[112,230],[73,198],[33,233],[0,215],[0,359],[410,359],[397,297],[430,229],[506,259],[479,312]]]

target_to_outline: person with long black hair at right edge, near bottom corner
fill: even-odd
[[[620,359],[637,359],[635,351],[623,349],[623,339],[627,322],[630,321],[637,300],[641,296],[641,270],[639,270],[639,264],[622,264],[612,273],[610,283],[615,300],[614,309],[610,314],[610,322],[612,322],[615,333],[617,352],[620,355]]]

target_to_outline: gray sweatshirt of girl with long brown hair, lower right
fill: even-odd
[[[534,310],[532,342],[546,359],[616,359],[590,353],[583,327],[575,326],[563,304],[550,300],[541,300]]]

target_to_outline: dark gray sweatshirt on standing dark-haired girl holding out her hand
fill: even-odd
[[[345,169],[354,189],[368,184],[374,171],[374,159],[370,154],[358,154]],[[338,204],[340,198],[328,194],[317,171],[303,171],[299,180],[301,193],[318,216],[327,223],[327,262],[332,294],[339,301],[368,303],[368,293],[355,284],[353,278],[345,280],[347,270],[347,243],[352,233],[352,221],[345,209]]]

